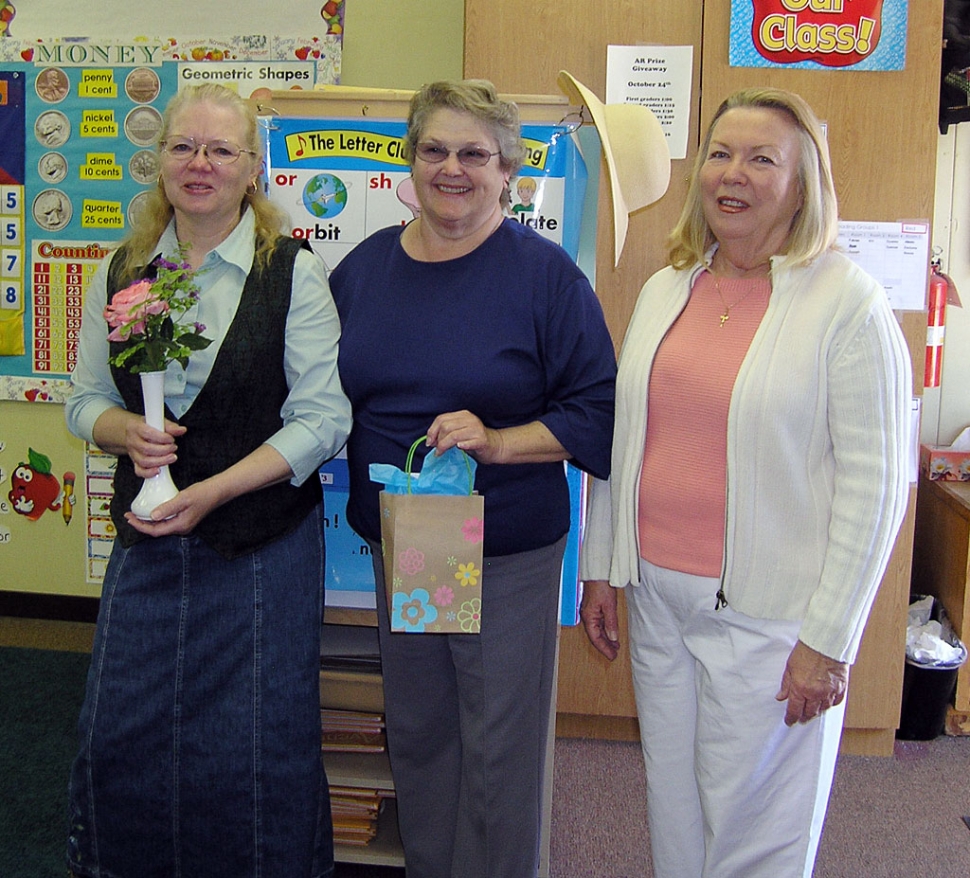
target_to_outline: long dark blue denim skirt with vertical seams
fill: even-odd
[[[70,778],[85,878],[327,878],[320,507],[227,561],[116,541]]]

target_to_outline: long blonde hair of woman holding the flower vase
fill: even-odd
[[[214,104],[236,113],[243,121],[245,130],[244,142],[240,146],[255,153],[252,156],[253,164],[259,167],[263,159],[263,144],[255,111],[237,92],[216,83],[182,89],[169,101],[162,116],[158,143],[163,142],[171,133],[172,121],[178,114],[192,104]],[[243,161],[244,158],[239,160]],[[254,188],[255,192],[246,192],[239,208],[241,212],[249,205],[253,212],[256,221],[256,264],[264,267],[287,227],[287,218],[283,210],[273,204],[259,186]],[[120,279],[124,283],[137,277],[148,260],[155,255],[153,251],[158,239],[174,214],[172,203],[165,195],[161,177],[147,194],[138,221],[123,242],[124,260],[120,266]]]

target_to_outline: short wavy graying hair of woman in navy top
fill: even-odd
[[[435,110],[457,110],[480,121],[498,141],[499,164],[509,176],[518,172],[525,161],[525,144],[519,123],[519,108],[512,101],[499,98],[495,86],[487,79],[443,79],[415,92],[408,109],[408,128],[402,155],[414,162],[414,150],[424,134],[428,119]]]

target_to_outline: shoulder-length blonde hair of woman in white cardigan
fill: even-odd
[[[797,181],[801,207],[788,230],[782,264],[805,265],[830,249],[839,233],[839,209],[832,179],[832,165],[822,126],[804,98],[779,88],[756,87],[725,98],[707,128],[691,171],[687,198],[680,219],[667,242],[667,258],[674,268],[703,262],[716,243],[707,224],[700,191],[700,170],[707,161],[711,136],[718,120],[729,110],[754,107],[779,110],[792,122],[798,135]]]

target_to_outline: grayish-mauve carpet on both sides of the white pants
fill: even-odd
[[[815,878],[970,875],[970,737],[843,756]],[[637,744],[556,742],[550,878],[652,878]]]

